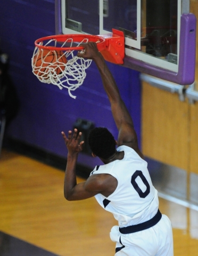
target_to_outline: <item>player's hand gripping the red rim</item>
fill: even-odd
[[[84,50],[78,52],[77,56],[81,58],[94,59],[100,55],[98,52],[97,45],[94,42],[88,42],[80,44],[79,46],[83,46]]]

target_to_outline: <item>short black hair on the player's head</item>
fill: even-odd
[[[92,152],[103,159],[108,159],[116,150],[116,141],[113,135],[104,127],[95,127],[90,131],[88,143]]]

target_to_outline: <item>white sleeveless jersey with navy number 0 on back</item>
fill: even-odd
[[[90,175],[111,174],[118,181],[116,190],[108,197],[95,196],[97,202],[118,220],[119,227],[137,225],[154,217],[159,207],[158,191],[153,187],[147,162],[134,149],[120,146],[123,159],[96,166]]]

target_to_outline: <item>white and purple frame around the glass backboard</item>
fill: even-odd
[[[100,3],[100,35],[109,34],[109,31],[103,29],[103,0],[98,0]],[[62,24],[64,19],[60,19],[62,16],[62,10],[65,8],[64,1],[55,1],[56,12],[56,34],[63,34]],[[137,0],[137,6],[141,0]],[[189,0],[178,0],[178,62],[177,65],[171,62],[148,56],[145,53],[141,53],[136,49],[139,49],[141,44],[141,36],[137,31],[137,40],[125,37],[125,44],[133,43],[131,49],[125,49],[125,59],[123,66],[141,71],[152,76],[156,76],[167,81],[174,82],[181,85],[192,84],[195,79],[195,49],[196,49],[196,18],[194,14],[189,13]],[[139,22],[137,19],[137,28]],[[182,28],[182,29],[180,29]],[[73,34],[72,29],[67,30],[68,34]],[[75,31],[75,34],[86,34]],[[136,49],[135,49],[135,48]],[[191,51],[189,51],[191,49]],[[148,61],[147,61],[148,60]],[[166,67],[165,67],[166,66]]]

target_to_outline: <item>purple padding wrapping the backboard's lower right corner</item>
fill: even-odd
[[[180,85],[192,84],[195,80],[196,17],[193,13],[181,16],[180,50],[178,73],[152,66],[149,63],[125,57],[123,66]]]

